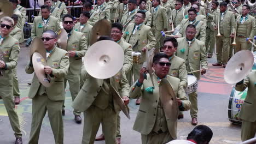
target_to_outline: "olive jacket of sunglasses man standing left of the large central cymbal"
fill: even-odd
[[[77,31],[71,31],[71,35],[67,41],[67,51],[75,51],[74,57],[69,57],[69,68],[68,72],[73,75],[81,74],[82,67],[82,57],[84,57],[86,51],[88,50],[86,39],[84,34]]]

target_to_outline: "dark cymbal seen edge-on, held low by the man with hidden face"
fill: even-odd
[[[125,116],[127,118],[131,119],[129,107],[124,104],[124,100],[120,97],[117,90],[115,90],[115,88],[113,86],[111,86],[110,91],[113,94],[114,101],[120,106],[120,109],[124,112]]]

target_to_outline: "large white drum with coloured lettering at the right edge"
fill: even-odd
[[[247,95],[247,88],[243,92],[236,91],[235,87],[232,88],[230,97],[229,97],[229,106],[228,106],[228,117],[229,121],[234,124],[241,124],[242,121],[240,118],[237,118],[243,101],[245,101]]]

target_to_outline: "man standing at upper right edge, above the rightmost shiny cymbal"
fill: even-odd
[[[237,17],[235,53],[241,50],[251,51],[252,44],[246,41],[246,39],[249,38],[251,41],[254,39],[256,26],[255,18],[248,14],[249,11],[249,5],[243,5],[242,15]],[[234,35],[232,35],[232,37],[234,37]]]

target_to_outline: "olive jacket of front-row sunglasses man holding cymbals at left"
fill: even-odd
[[[50,75],[51,82],[53,82],[53,84],[50,87],[45,88],[48,98],[53,101],[65,100],[63,79],[67,75],[69,67],[67,51],[54,47],[53,51],[46,59],[46,64],[53,69],[53,75]],[[27,74],[32,74],[34,72],[34,68],[30,66],[30,63],[28,63],[25,71]],[[39,82],[37,75],[34,74],[30,92],[28,92],[29,98],[33,99],[37,95],[40,85],[42,84]]]

